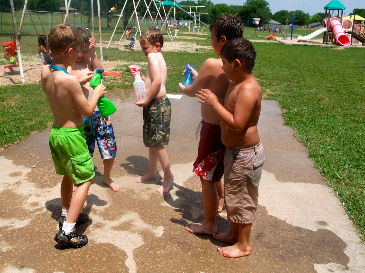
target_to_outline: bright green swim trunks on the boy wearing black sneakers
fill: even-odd
[[[49,147],[57,174],[68,174],[75,184],[89,181],[95,176],[94,164],[84,138],[84,125],[59,128],[53,124]]]

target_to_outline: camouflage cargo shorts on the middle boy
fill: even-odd
[[[155,98],[143,107],[143,144],[156,147],[169,144],[171,103],[167,96]]]

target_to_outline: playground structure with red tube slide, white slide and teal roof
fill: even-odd
[[[322,21],[323,28],[317,29],[307,36],[299,36],[297,37],[297,40],[307,41],[323,33],[323,43],[326,44],[335,41],[341,46],[350,46],[351,44],[356,43],[356,41],[365,43],[364,20],[361,21],[362,24],[360,24],[355,21],[356,15],[354,15],[354,19],[352,19],[352,16],[342,17],[343,10],[345,10],[346,7],[338,0],[332,0],[324,9],[326,10],[325,14],[327,17]],[[341,17],[339,16],[340,10]],[[337,17],[331,18],[330,11],[337,11]]]

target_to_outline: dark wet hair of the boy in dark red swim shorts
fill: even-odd
[[[224,36],[228,40],[243,36],[242,20],[234,15],[223,15],[216,18],[209,29],[219,39]]]

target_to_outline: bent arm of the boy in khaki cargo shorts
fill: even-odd
[[[239,134],[246,127],[256,103],[255,96],[252,95],[254,92],[250,89],[251,86],[245,86],[238,90],[233,113],[224,108],[209,89],[199,90],[196,96],[198,102],[211,107],[231,131]]]

